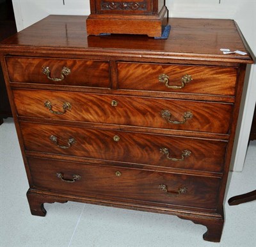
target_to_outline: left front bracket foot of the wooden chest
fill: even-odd
[[[31,214],[36,216],[45,216],[46,210],[44,208],[44,203],[67,202],[67,200],[61,198],[55,198],[54,196],[35,193],[30,190],[27,192],[27,198]]]

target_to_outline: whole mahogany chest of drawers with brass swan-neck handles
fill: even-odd
[[[170,19],[167,40],[87,36],[84,23],[49,16],[0,47],[31,213],[72,200],[174,214],[220,241],[253,63],[236,23]]]

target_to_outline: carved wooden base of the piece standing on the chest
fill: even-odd
[[[88,35],[121,33],[158,37],[168,22],[163,0],[90,0],[90,9],[86,20]]]

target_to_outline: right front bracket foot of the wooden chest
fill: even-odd
[[[179,218],[189,219],[195,224],[200,224],[207,227],[207,232],[205,232],[205,234],[203,235],[205,241],[220,242],[224,225],[223,218],[197,218],[193,216],[179,216]]]

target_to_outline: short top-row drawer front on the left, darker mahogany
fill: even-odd
[[[6,57],[6,65],[13,83],[110,88],[108,61]]]

